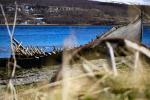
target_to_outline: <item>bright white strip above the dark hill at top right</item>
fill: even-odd
[[[124,3],[128,5],[150,5],[150,0],[91,0],[100,2],[111,2],[111,3]]]

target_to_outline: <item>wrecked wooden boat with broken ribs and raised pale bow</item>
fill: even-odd
[[[130,41],[140,43],[141,42],[140,39],[142,36],[141,35],[142,32],[140,31],[141,27],[142,27],[141,19],[137,18],[133,23],[129,23],[128,25],[122,26],[122,27],[113,27],[109,31],[105,32],[104,34],[97,36],[95,39],[93,39],[89,43],[78,46],[78,47],[70,48],[69,50],[73,51],[73,50],[79,49],[83,51],[82,53],[84,53],[85,48],[91,48],[94,46],[99,47],[100,42],[103,40],[107,40],[107,39],[128,39]],[[22,43],[19,42],[15,38],[13,38],[13,46],[15,50],[17,64],[20,66],[22,65],[34,66],[38,63],[45,65],[47,63],[49,64],[50,62],[52,64],[60,64],[62,61],[64,48],[57,48],[55,46],[49,46],[48,48],[50,49],[48,50],[47,47],[42,48],[38,46],[23,46]],[[31,62],[32,64],[29,64],[29,62]]]

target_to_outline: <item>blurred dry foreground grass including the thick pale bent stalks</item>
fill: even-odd
[[[87,60],[81,53],[75,53],[78,61],[70,63],[72,52],[64,52],[61,69],[53,82],[45,80],[14,86],[10,80],[7,88],[1,86],[0,99],[149,100],[150,50],[128,40],[122,41],[127,48],[118,46],[117,50],[106,42],[108,59]],[[120,54],[118,50],[126,56],[115,56]]]

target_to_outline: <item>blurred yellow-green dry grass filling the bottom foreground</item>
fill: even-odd
[[[150,65],[134,56],[116,58],[117,74],[105,59],[64,65],[62,79],[1,89],[4,100],[149,100]],[[100,65],[101,67],[99,67]]]

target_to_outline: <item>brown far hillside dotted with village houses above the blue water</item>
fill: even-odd
[[[115,6],[115,9],[114,9]],[[3,5],[9,24],[13,24],[15,5]],[[113,9],[112,9],[113,8]],[[132,7],[131,7],[132,8]],[[126,5],[100,4],[91,8],[74,5],[18,4],[17,25],[123,25],[131,21],[134,14],[127,12]],[[110,10],[111,9],[111,10]],[[135,12],[136,14],[136,12]],[[0,13],[0,24],[5,20]],[[144,24],[149,25],[148,20]]]

